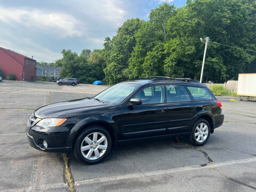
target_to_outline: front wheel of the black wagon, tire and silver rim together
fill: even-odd
[[[74,146],[75,157],[86,164],[101,162],[111,150],[109,132],[101,126],[87,127],[77,138]]]

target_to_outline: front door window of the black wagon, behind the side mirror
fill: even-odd
[[[134,98],[142,100],[142,104],[163,103],[164,102],[164,86],[152,85],[139,91]]]

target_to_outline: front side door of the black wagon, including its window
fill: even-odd
[[[132,139],[166,134],[166,103],[163,85],[143,87],[133,98],[139,106],[122,108],[122,138]]]

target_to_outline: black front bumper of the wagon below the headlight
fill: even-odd
[[[69,152],[73,150],[72,147],[66,146],[67,132],[45,134],[35,132],[27,127],[26,134],[29,145],[38,150],[45,152]],[[43,140],[48,143],[47,148],[43,146]]]

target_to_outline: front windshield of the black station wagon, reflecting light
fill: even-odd
[[[118,83],[114,86],[109,87],[105,91],[102,91],[96,95],[93,99],[99,99],[103,102],[110,103],[121,103],[127,98],[132,92],[138,89],[140,85],[132,83]]]

